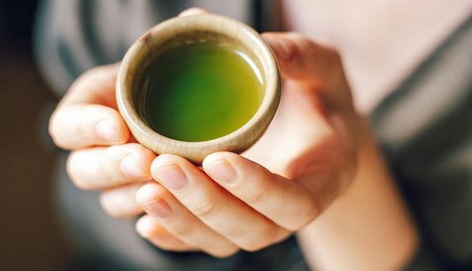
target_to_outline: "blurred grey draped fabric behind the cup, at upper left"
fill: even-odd
[[[83,72],[120,61],[149,28],[199,6],[252,25],[252,1],[43,0],[35,21],[35,57],[59,97]]]

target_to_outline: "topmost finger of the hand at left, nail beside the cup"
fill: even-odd
[[[120,113],[104,105],[60,106],[50,119],[50,136],[59,147],[77,150],[126,143],[129,131]]]

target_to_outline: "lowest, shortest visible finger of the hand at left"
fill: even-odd
[[[153,181],[152,181],[153,182]],[[143,213],[143,208],[136,203],[136,192],[147,182],[131,183],[104,190],[100,194],[100,205],[105,213],[116,218],[129,218]]]

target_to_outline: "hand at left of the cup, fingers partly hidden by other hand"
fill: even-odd
[[[67,173],[83,190],[103,190],[100,203],[113,217],[143,213],[135,192],[151,180],[156,154],[135,143],[117,111],[115,84],[119,65],[82,74],[50,117],[50,136],[71,150]]]

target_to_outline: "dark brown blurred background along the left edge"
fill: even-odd
[[[60,270],[66,245],[54,217],[57,150],[47,122],[57,100],[32,53],[35,0],[0,0],[0,269]]]

